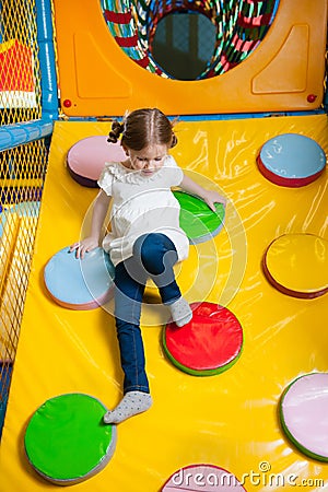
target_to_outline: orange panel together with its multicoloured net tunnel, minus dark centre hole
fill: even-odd
[[[67,115],[122,115],[136,106],[161,106],[172,115],[210,115],[308,110],[320,105],[325,0],[315,4],[300,0],[297,9],[293,2],[278,0],[82,4],[57,0],[55,8]],[[152,33],[169,12],[183,15],[190,9],[216,26],[209,66],[192,83],[167,80],[157,73],[152,57]]]

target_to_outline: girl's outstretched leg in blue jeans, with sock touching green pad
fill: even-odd
[[[138,265],[134,266],[133,262],[133,258],[130,258],[117,265],[115,269],[115,318],[120,362],[125,374],[125,396],[112,412],[105,414],[106,423],[122,422],[129,417],[148,410],[152,403],[140,331],[140,313],[145,279],[142,272],[138,271],[140,270]],[[131,270],[132,276],[128,270]]]

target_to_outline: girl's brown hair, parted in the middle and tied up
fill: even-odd
[[[127,114],[122,122],[113,121],[108,142],[116,143],[121,134],[121,144],[128,149],[140,151],[149,145],[177,144],[173,125],[160,109],[137,109]]]

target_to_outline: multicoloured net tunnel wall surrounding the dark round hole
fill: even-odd
[[[265,38],[278,0],[101,0],[108,28],[121,49],[139,66],[173,78],[156,62],[153,39],[159,23],[171,13],[197,13],[215,25],[215,44],[197,79],[220,75],[245,60]]]

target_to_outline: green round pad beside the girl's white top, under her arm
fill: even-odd
[[[198,197],[184,191],[174,191],[180,204],[180,227],[185,231],[191,244],[204,243],[220,233],[223,227],[225,209],[222,203],[215,203],[213,212]]]

